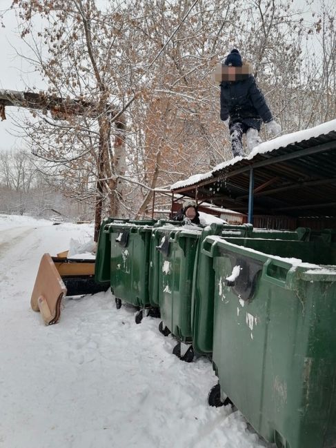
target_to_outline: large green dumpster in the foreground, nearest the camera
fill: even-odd
[[[335,244],[208,236],[202,252],[215,269],[209,403],[228,396],[278,448],[335,447]]]

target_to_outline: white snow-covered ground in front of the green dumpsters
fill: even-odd
[[[1,448],[261,448],[239,411],[207,404],[210,361],[184,363],[159,319],[135,324],[110,292],[63,301],[45,327],[30,309],[44,252],[93,227],[0,215]]]

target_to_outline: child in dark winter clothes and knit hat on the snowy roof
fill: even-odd
[[[274,121],[251,74],[250,64],[241,61],[238,50],[232,50],[221,64],[220,80],[221,120],[230,129],[233,156],[244,157],[243,134],[246,134],[246,147],[250,152],[261,143],[262,121],[266,123],[266,130],[275,135],[281,132],[281,126]]]

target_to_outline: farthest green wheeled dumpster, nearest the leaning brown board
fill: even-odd
[[[143,309],[149,308],[150,316],[157,316],[151,309],[148,292],[150,264],[150,238],[155,221],[112,222],[103,232],[110,238],[110,286],[117,308],[121,301],[139,307],[135,321],[140,323]]]

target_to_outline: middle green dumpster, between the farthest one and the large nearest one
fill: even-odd
[[[192,278],[201,227],[158,227],[154,232],[155,238],[160,241],[157,245],[158,296],[162,318],[159,330],[166,335],[171,332],[179,341],[173,353],[191,362],[194,356],[190,344]]]

